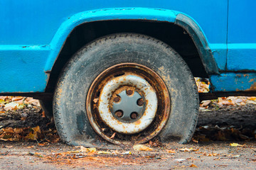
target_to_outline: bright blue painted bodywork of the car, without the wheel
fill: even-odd
[[[245,5],[247,2],[239,3]],[[217,72],[208,71],[213,85],[218,83],[215,79],[220,76],[218,71],[255,72],[256,45],[255,34],[252,35],[255,16],[252,16],[251,6],[245,6],[250,8],[245,15],[234,14],[239,3],[228,0],[0,1],[0,93],[44,92],[65,40],[82,23],[110,20],[174,23],[178,14],[190,18],[206,41],[204,47],[215,64],[213,60],[204,65],[214,65],[218,69]],[[237,21],[245,21],[245,25]],[[241,33],[245,28],[249,31]],[[251,62],[247,62],[249,59]],[[211,75],[213,73],[216,75]],[[225,86],[226,91],[233,90]],[[215,90],[220,89],[213,88]]]

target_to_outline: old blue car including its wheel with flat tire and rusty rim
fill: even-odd
[[[255,6],[0,1],[0,95],[38,98],[70,145],[189,142],[199,101],[256,95]]]

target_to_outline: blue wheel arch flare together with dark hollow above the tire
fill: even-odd
[[[209,74],[218,74],[218,67],[213,58],[213,54],[208,46],[206,36],[203,34],[203,30],[201,30],[200,26],[198,26],[193,18],[177,11],[156,8],[101,9],[97,11],[85,11],[71,16],[70,18],[68,18],[67,21],[61,24],[57,33],[55,33],[53,40],[50,42],[50,47],[53,50],[50,52],[45,66],[46,73],[50,74],[50,78],[48,79],[48,84],[46,86],[46,92],[52,92],[54,90],[56,79],[58,79],[58,74],[65,65],[65,62],[67,62],[74,53],[67,51],[67,43],[75,42],[75,45],[69,46],[75,46],[71,48],[79,50],[80,47],[84,46],[86,43],[95,40],[96,38],[99,38],[99,35],[103,36],[114,33],[112,32],[113,30],[111,30],[105,32],[102,31],[104,33],[100,33],[99,35],[93,35],[94,33],[91,33],[95,31],[93,30],[95,29],[93,27],[97,26],[98,23],[101,23],[102,25],[106,23],[115,23],[118,25],[118,23],[129,22],[134,22],[134,24],[140,23],[142,25],[145,23],[150,23],[151,26],[153,26],[154,24],[155,26],[157,24],[165,24],[165,26],[168,25],[174,27],[174,30],[178,30],[179,32],[184,31],[184,34],[188,33],[190,40],[188,40],[188,38],[187,40],[189,41],[188,43],[191,45],[191,47],[189,48],[193,48],[192,50],[190,50],[193,53],[193,56],[196,56],[194,57],[196,59],[196,62],[189,61],[189,57],[185,59],[188,66],[193,67],[191,66],[191,64],[198,63],[194,67],[198,67],[198,65],[199,67],[201,67],[201,69],[198,69],[197,71],[202,72],[202,77],[208,77]],[[75,37],[74,35],[75,30],[79,30],[80,28],[83,29],[83,34],[89,36],[89,38],[87,37],[87,40],[83,42],[80,42],[78,36]],[[122,32],[122,29],[115,28],[114,30],[117,30],[117,33]],[[132,32],[141,33],[136,29]],[[166,30],[166,33],[170,34],[170,32],[171,31]],[[144,34],[150,35],[151,33]],[[153,35],[151,36],[165,42],[163,38],[154,36],[154,34],[156,35],[156,33],[153,33]],[[73,38],[75,40],[71,40]],[[69,40],[70,42],[68,42]],[[193,45],[191,42],[193,43]],[[82,43],[82,45],[80,43]],[[166,43],[170,45],[171,42]],[[196,52],[194,52],[195,49]],[[183,55],[181,56],[183,57]],[[188,62],[191,64],[189,64]],[[194,73],[194,70],[191,70]]]

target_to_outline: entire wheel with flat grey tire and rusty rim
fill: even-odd
[[[53,98],[60,137],[102,147],[191,140],[198,119],[193,75],[168,45],[146,35],[107,35],[78,51]],[[104,144],[103,144],[104,143]]]

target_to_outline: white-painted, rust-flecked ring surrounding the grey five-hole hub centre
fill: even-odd
[[[143,94],[144,101],[145,101],[144,113],[142,113],[141,116],[134,122],[125,122],[115,118],[111,111],[112,109],[110,109],[110,106],[111,106],[110,98],[113,95],[114,91],[117,91],[117,89],[119,89],[120,86],[135,87],[135,91],[141,92],[141,94]],[[134,98],[136,98],[135,95],[138,96],[138,93],[137,92],[134,93]],[[121,101],[122,101],[122,98],[121,98]],[[134,102],[136,102],[136,100]],[[123,75],[123,76],[111,79],[103,87],[102,92],[100,93],[98,110],[102,120],[105,122],[105,124],[107,124],[110,128],[112,128],[112,130],[115,130],[123,134],[134,134],[146,129],[152,123],[157,111],[157,102],[158,101],[157,101],[156,91],[154,91],[154,89],[145,79],[142,79],[142,77],[138,77],[134,75]],[[136,103],[132,103],[132,100],[130,100],[125,104],[122,103],[120,107],[121,107],[120,110],[122,109],[127,110],[127,108],[129,107],[134,107],[134,109],[137,109],[137,110],[139,108],[136,106]]]

